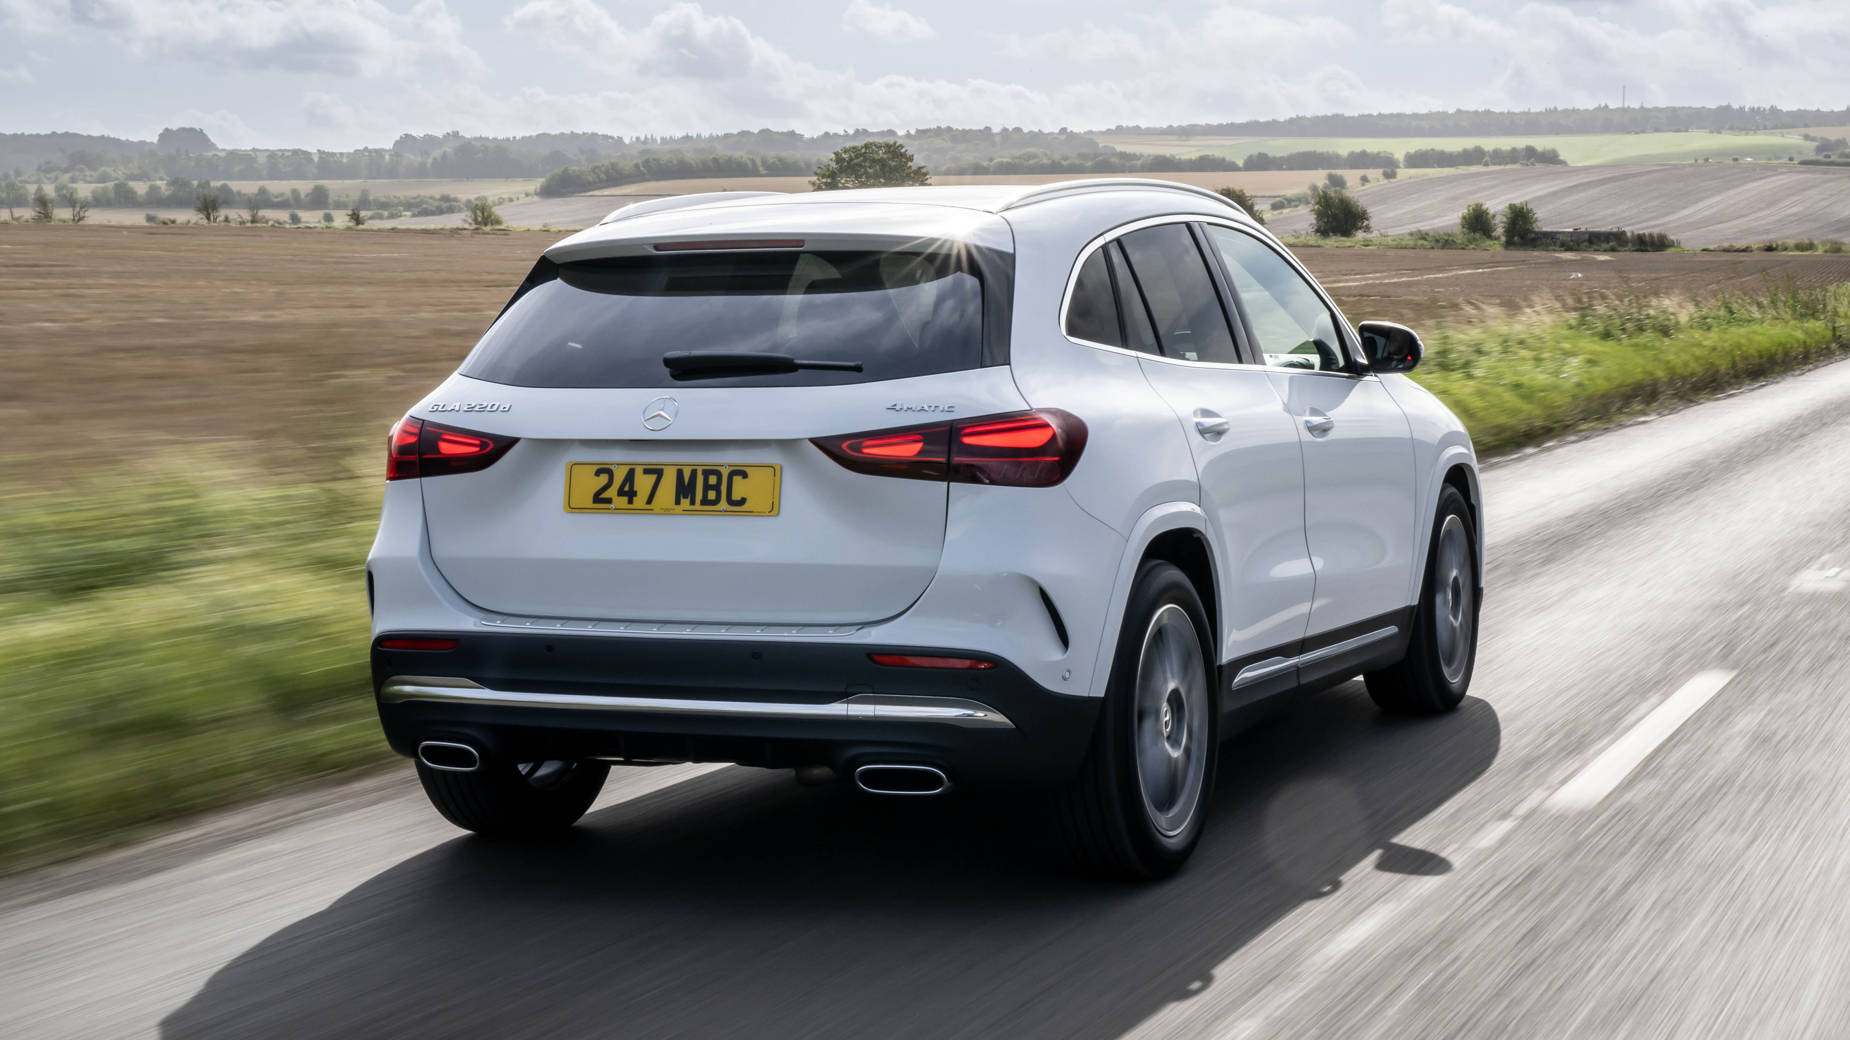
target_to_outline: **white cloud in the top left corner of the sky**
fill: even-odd
[[[483,68],[444,0],[0,0],[28,33],[91,30],[144,57],[233,68],[411,76]]]

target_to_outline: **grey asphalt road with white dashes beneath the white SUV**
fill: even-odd
[[[400,770],[0,886],[0,1036],[1850,1034],[1850,363],[1487,492],[1474,696],[1230,742],[1167,883],[729,766],[511,848]]]

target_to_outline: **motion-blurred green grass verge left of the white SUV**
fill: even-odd
[[[390,757],[376,479],[176,457],[0,501],[0,873]]]

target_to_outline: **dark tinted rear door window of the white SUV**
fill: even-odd
[[[1240,363],[1208,265],[1186,224],[1160,224],[1119,239],[1164,357]]]

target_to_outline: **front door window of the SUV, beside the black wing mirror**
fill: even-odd
[[[1208,226],[1208,239],[1240,292],[1265,365],[1319,372],[1345,366],[1336,318],[1291,265],[1232,228]]]

